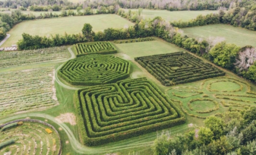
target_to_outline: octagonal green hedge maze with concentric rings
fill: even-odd
[[[91,54],[67,61],[58,74],[72,85],[100,85],[126,79],[130,63],[111,55]]]

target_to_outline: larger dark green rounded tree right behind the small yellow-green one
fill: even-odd
[[[223,126],[223,120],[216,116],[210,116],[205,120],[205,127],[209,128],[212,133],[214,133],[214,139],[219,139],[222,136],[224,133]]]

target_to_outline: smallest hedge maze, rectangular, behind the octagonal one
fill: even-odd
[[[88,54],[113,54],[117,49],[110,42],[87,42],[74,45],[77,57]]]

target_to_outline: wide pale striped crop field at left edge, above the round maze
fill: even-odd
[[[0,73],[0,116],[56,105],[54,69]]]

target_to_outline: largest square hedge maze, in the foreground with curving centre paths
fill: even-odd
[[[102,145],[177,126],[183,113],[146,78],[76,91],[85,145]]]

